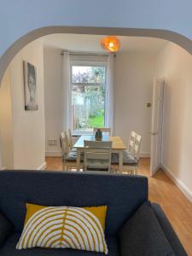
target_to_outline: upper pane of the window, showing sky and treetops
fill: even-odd
[[[72,82],[85,84],[105,84],[105,67],[72,67]]]

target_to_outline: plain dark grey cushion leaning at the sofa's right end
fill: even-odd
[[[148,201],[125,222],[118,236],[121,255],[175,255]]]

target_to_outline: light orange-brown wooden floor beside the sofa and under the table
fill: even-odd
[[[47,170],[62,170],[61,158],[48,157],[46,162]],[[183,247],[192,256],[192,204],[162,170],[150,177],[149,167],[149,160],[142,159],[138,171],[148,177],[149,200],[160,204]]]

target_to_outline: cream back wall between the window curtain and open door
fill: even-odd
[[[150,154],[154,56],[122,53],[115,58],[114,127],[127,144],[131,131],[143,137],[141,155]]]

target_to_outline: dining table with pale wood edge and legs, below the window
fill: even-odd
[[[82,135],[79,137],[78,141],[73,145],[73,148],[77,148],[77,170],[80,170],[80,156],[84,152],[84,140],[95,141],[94,135]],[[112,153],[119,154],[119,172],[122,172],[123,168],[123,150],[125,150],[125,144],[123,143],[121,137],[110,137],[108,135],[102,136],[103,142],[112,141]]]

